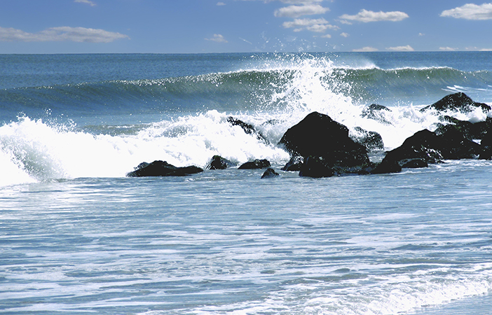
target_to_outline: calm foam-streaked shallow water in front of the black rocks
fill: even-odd
[[[486,294],[491,165],[459,167],[11,188],[1,200],[0,305],[23,314],[396,314]]]

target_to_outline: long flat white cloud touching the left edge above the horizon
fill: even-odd
[[[51,27],[39,33],[27,33],[20,29],[0,27],[0,41],[76,41],[86,43],[110,43],[121,38],[130,38],[125,34],[104,31],[104,29],[86,29],[84,27]]]

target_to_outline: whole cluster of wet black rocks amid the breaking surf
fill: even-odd
[[[474,109],[484,112],[491,107],[473,102],[464,93],[451,94],[421,111],[461,111]],[[388,123],[382,112],[390,111],[385,106],[372,104],[363,111],[362,116]],[[280,139],[278,146],[290,153],[289,162],[282,171],[299,172],[300,176],[329,177],[350,174],[387,174],[401,172],[403,168],[428,167],[442,160],[479,158],[492,159],[492,118],[484,122],[470,123],[450,116],[439,118],[442,123],[435,132],[421,130],[409,137],[398,148],[385,153],[380,163],[369,161],[368,151],[382,150],[383,140],[376,132],[355,128],[356,135],[349,136],[348,128],[327,115],[313,112],[292,126]],[[240,126],[247,134],[254,134],[266,141],[253,125],[229,117],[228,123]],[[480,144],[477,141],[481,141]],[[214,155],[205,170],[227,169],[235,163],[219,155]],[[262,179],[279,176],[271,168],[268,160],[252,160],[240,165],[238,169],[265,169]],[[142,163],[130,177],[140,176],[186,176],[203,172],[196,166],[175,167],[163,161]]]

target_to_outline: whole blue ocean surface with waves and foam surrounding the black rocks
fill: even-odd
[[[492,105],[492,52],[0,55],[0,314],[491,314],[492,161],[280,171],[312,111],[390,150],[454,92]],[[213,155],[280,176],[125,176]]]

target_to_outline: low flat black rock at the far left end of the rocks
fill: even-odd
[[[203,169],[196,166],[175,167],[165,161],[153,161],[151,163],[140,163],[135,171],[126,174],[128,177],[144,176],[186,176],[203,172]]]

